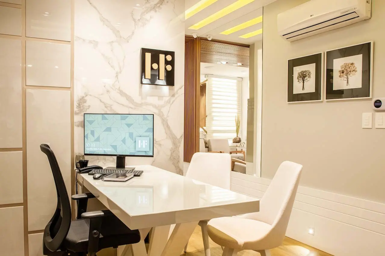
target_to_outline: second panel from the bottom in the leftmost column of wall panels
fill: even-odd
[[[0,152],[0,204],[23,202],[23,152]]]

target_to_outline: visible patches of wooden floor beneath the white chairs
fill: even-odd
[[[323,251],[307,246],[306,244],[295,241],[289,237],[285,238],[282,246],[271,249],[270,252],[271,256],[332,256],[331,254],[324,253]],[[221,246],[214,243],[211,239],[210,253],[211,256],[221,256],[223,253]],[[259,253],[250,250],[245,250],[238,253],[238,256],[259,255]],[[204,256],[201,227],[197,226],[194,230],[194,233],[190,237],[189,246],[187,247],[185,256]]]

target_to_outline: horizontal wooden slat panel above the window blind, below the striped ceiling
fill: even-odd
[[[229,64],[242,63],[249,67],[249,45],[201,39],[201,62],[217,63],[227,61]]]

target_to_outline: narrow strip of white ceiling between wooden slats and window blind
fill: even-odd
[[[233,77],[248,77],[249,68],[201,62],[201,74],[233,76]]]

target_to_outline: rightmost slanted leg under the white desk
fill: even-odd
[[[181,255],[196,225],[198,225],[198,221],[176,224],[161,256]]]

